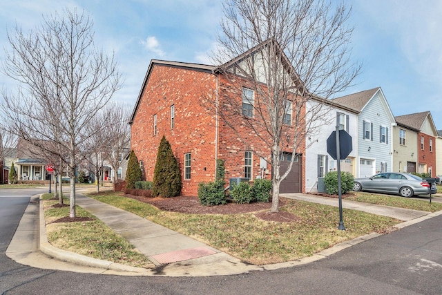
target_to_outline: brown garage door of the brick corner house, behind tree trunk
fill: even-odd
[[[287,171],[291,161],[291,153],[284,153],[281,161],[280,174],[284,174]],[[291,171],[285,180],[282,180],[280,187],[280,193],[301,193],[302,192],[302,155],[296,155]]]

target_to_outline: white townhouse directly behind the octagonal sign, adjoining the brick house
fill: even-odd
[[[347,131],[352,136],[352,152],[346,159],[340,160],[340,170],[356,175],[357,144],[358,139],[358,111],[352,108],[335,104],[330,100],[311,99],[307,103],[307,113],[309,110],[318,108],[318,104],[323,104],[320,113],[314,111],[321,117],[314,121],[311,133],[307,135],[305,162],[305,189],[307,192],[314,192],[318,189],[318,178],[324,177],[329,171],[336,171],[337,163],[329,153],[327,153],[327,138],[339,129]]]

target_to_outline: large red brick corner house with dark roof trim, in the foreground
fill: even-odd
[[[265,144],[256,133],[244,128],[241,137],[245,140],[240,140],[216,111],[204,106],[207,97],[215,97],[218,106],[226,106],[231,102],[240,104],[244,95],[253,95],[247,81],[238,77],[232,82],[216,66],[152,60],[129,122],[131,149],[140,161],[144,179],[153,180],[163,135],[180,165],[182,196],[196,196],[200,182],[215,180],[217,159],[225,161],[227,183],[229,178],[271,179],[271,151],[263,147]],[[242,115],[234,122],[241,127]],[[293,146],[288,145],[282,172],[292,159],[291,151]],[[304,157],[305,145],[301,145],[280,193],[305,191]]]

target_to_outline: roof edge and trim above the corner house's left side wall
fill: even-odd
[[[137,102],[135,103],[135,107],[133,108],[131,120],[129,120],[129,124],[132,124],[133,120],[135,119],[135,115],[137,114],[138,108],[140,106],[141,99],[142,99],[142,96],[144,93],[144,89],[146,88],[148,79],[149,79],[149,77],[151,77],[151,73],[152,73],[153,67],[155,65],[170,66],[170,67],[175,67],[175,68],[184,68],[184,69],[188,69],[188,70],[202,70],[207,73],[213,73],[213,70],[215,70],[215,68],[216,68],[215,66],[209,66],[206,64],[192,64],[192,63],[180,62],[180,61],[164,61],[164,60],[158,60],[158,59],[151,59],[151,63],[149,64],[147,71],[146,71],[146,76],[144,76],[144,80],[143,80],[143,84],[142,84],[140,93],[138,94]]]

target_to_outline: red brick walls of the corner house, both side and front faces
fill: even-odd
[[[242,83],[238,80],[233,85],[225,77],[219,76],[220,104],[240,104]],[[182,196],[197,196],[200,182],[215,180],[217,158],[225,160],[225,180],[228,183],[229,178],[244,177],[244,151],[256,151],[253,153],[253,179],[260,174],[260,155],[270,160],[271,151],[268,144],[263,144],[262,139],[250,129],[238,128],[242,123],[241,117],[233,122],[236,129],[241,130],[241,137],[246,139],[247,144],[220,118],[216,155],[215,117],[200,104],[202,99],[215,93],[216,85],[216,76],[211,73],[157,64],[153,66],[131,126],[131,147],[138,160],[143,161],[145,180],[153,180],[157,150],[163,135],[170,142],[180,164]],[[172,104],[175,105],[173,129],[170,125]],[[157,114],[157,135],[153,135],[154,114]],[[263,130],[261,135],[268,137]],[[291,146],[288,146],[287,151],[290,149]],[[184,180],[185,153],[191,153],[191,180]],[[305,147],[298,149],[298,153],[305,154]],[[305,167],[304,164],[302,166]],[[267,164],[267,169],[265,178],[270,179],[270,164]],[[304,188],[305,183],[302,184],[302,191],[305,191]]]

